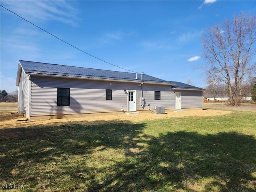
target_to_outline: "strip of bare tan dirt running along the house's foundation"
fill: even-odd
[[[167,112],[166,114],[153,114],[153,113],[140,113],[137,115],[103,115],[94,117],[84,117],[84,118],[67,118],[67,119],[52,119],[52,120],[29,120],[29,121],[17,121],[26,120],[22,116],[16,117],[13,114],[12,119],[6,118],[6,120],[1,119],[1,129],[4,128],[21,128],[21,127],[31,127],[31,126],[53,126],[61,124],[82,124],[84,126],[91,126],[97,124],[105,123],[115,123],[115,122],[142,122],[146,120],[155,120],[162,118],[180,118],[184,116],[222,116],[232,113],[231,111],[219,111],[219,110],[188,110],[182,112]]]

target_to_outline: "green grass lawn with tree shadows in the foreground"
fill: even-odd
[[[5,184],[26,192],[253,192],[255,112],[4,129]]]

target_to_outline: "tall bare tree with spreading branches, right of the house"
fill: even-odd
[[[202,34],[202,57],[209,70],[228,85],[229,104],[237,104],[237,89],[245,74],[255,72],[256,19],[241,12],[231,22],[209,27]]]

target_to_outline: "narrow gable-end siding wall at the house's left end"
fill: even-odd
[[[28,115],[28,79],[29,75],[21,71],[19,91],[18,91],[18,111],[26,110],[26,115]],[[23,96],[22,96],[23,94]]]

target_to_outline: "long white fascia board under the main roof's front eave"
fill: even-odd
[[[60,78],[71,78],[71,79],[88,79],[88,80],[100,80],[100,81],[114,81],[114,82],[129,82],[129,83],[144,83],[144,84],[161,84],[161,85],[176,85],[173,83],[158,83],[158,82],[147,82],[147,81],[131,81],[131,80],[116,80],[116,79],[102,79],[102,78],[90,78],[90,77],[74,77],[65,75],[51,75],[51,74],[38,74],[38,73],[26,73],[34,76],[46,76],[46,77],[60,77]]]

